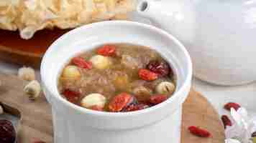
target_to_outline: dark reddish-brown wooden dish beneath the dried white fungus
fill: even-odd
[[[32,39],[21,39],[18,31],[0,30],[0,60],[38,68],[47,48],[70,29],[44,29]]]

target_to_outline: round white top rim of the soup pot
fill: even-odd
[[[139,26],[140,28],[154,31],[156,34],[166,36],[166,37],[168,37],[168,39],[172,40],[175,44],[177,44],[178,47],[180,48],[180,51],[182,51],[183,54],[185,54],[186,57],[184,59],[186,59],[186,61],[188,63],[186,65],[188,68],[188,73],[186,75],[184,75],[185,82],[181,83],[180,88],[173,94],[172,97],[168,98],[168,100],[166,100],[165,102],[163,102],[161,104],[157,104],[153,107],[150,107],[147,109],[142,109],[142,110],[135,111],[135,112],[117,112],[117,113],[116,112],[98,112],[98,111],[94,111],[91,109],[79,107],[76,104],[68,102],[66,99],[61,97],[61,95],[59,93],[56,94],[54,92],[54,90],[52,89],[52,87],[49,87],[49,85],[47,85],[47,83],[45,82],[47,79],[47,69],[45,69],[45,66],[47,65],[47,56],[51,54],[52,50],[54,49],[54,47],[56,45],[58,45],[59,41],[61,42],[64,37],[66,37],[70,34],[75,34],[75,33],[78,33],[79,31],[91,29],[92,27],[95,27],[95,26],[102,26],[102,25],[104,25],[104,26],[115,25],[116,26],[116,25],[120,25],[120,24],[125,25],[125,26]],[[176,39],[174,36],[168,34],[166,31],[163,31],[162,29],[158,29],[157,27],[151,26],[149,24],[142,24],[142,23],[138,23],[138,22],[134,22],[134,21],[101,21],[101,22],[88,24],[88,25],[73,29],[73,30],[69,31],[68,33],[64,34],[63,36],[60,36],[60,38],[58,38],[56,41],[54,41],[51,44],[51,46],[47,49],[47,51],[45,52],[45,55],[42,58],[40,74],[41,74],[41,79],[42,79],[42,85],[45,87],[45,89],[47,89],[47,92],[50,92],[52,98],[58,100],[61,104],[64,104],[66,107],[71,107],[72,109],[75,109],[76,111],[79,111],[82,114],[91,114],[91,115],[97,115],[97,116],[101,116],[101,117],[131,117],[131,116],[137,116],[140,114],[146,114],[149,112],[154,112],[156,109],[160,109],[162,107],[165,107],[167,104],[174,102],[178,98],[178,96],[181,96],[182,92],[186,91],[186,89],[191,86],[192,61],[191,61],[190,55],[188,54],[188,51],[183,46],[183,44],[181,44],[180,41],[178,41],[178,39]],[[57,83],[55,83],[55,86],[57,87]]]

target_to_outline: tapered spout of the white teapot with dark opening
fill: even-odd
[[[194,7],[187,0],[141,0],[137,5],[137,13],[188,44],[195,35]]]

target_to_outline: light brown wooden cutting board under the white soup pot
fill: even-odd
[[[30,143],[32,138],[39,138],[52,143],[52,116],[50,105],[42,95],[35,102],[29,101],[22,89],[27,82],[16,76],[0,73],[3,86],[0,87],[0,102],[21,112],[19,143]],[[1,116],[1,115],[0,115]],[[203,127],[211,132],[212,137],[200,138],[190,134],[188,126]],[[223,143],[224,127],[219,120],[219,114],[201,94],[191,90],[188,99],[183,104],[183,122],[181,143]]]

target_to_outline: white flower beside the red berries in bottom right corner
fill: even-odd
[[[249,118],[247,110],[243,107],[239,108],[237,111],[232,108],[231,116],[233,125],[232,127],[227,127],[225,130],[226,138],[229,139],[227,142],[234,142],[230,141],[230,139],[237,139],[241,143],[252,143],[250,138],[252,132],[256,130],[256,117]]]

